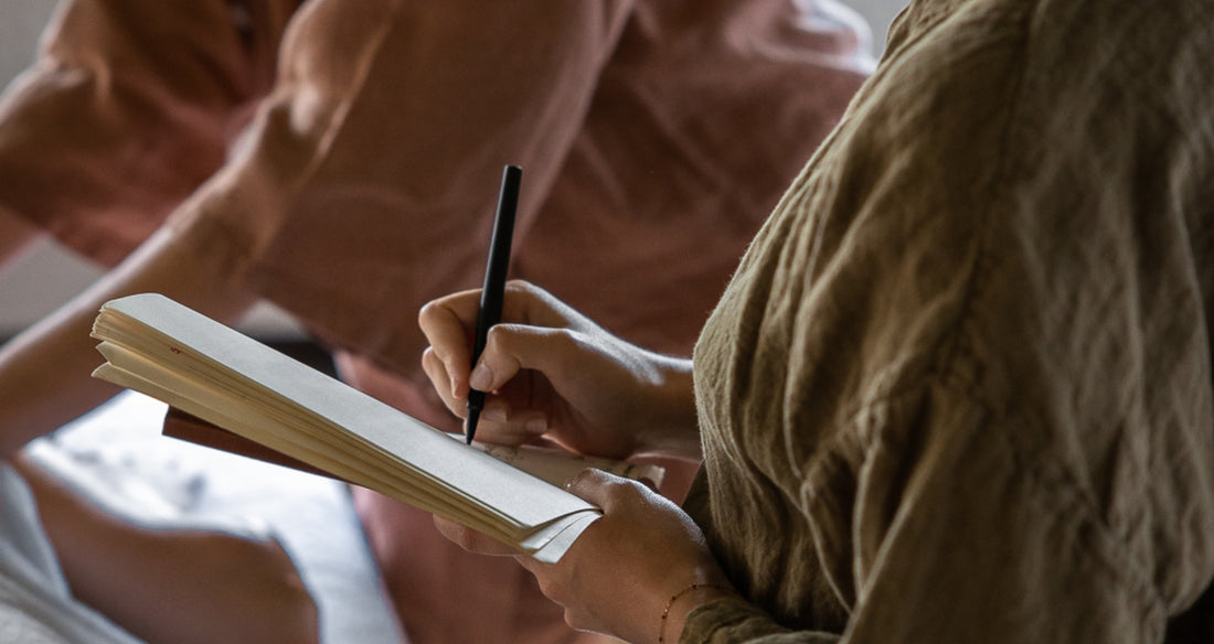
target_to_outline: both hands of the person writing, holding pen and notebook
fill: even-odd
[[[466,331],[475,324],[478,303],[480,291],[464,291],[426,304],[419,320],[431,342],[422,364],[453,411],[466,414],[470,388],[495,392],[481,414],[482,437],[492,434],[486,438],[509,444],[550,438],[572,451],[614,458],[652,454],[702,458],[690,360],[630,344],[546,291],[514,281],[503,312],[510,323],[490,329],[482,358],[469,372]],[[658,615],[652,609],[662,605],[670,588],[685,583],[675,594],[687,600],[732,593],[700,530],[669,500],[640,483],[597,471],[586,471],[567,488],[607,511],[611,526],[601,528],[608,523],[603,519],[583,535],[566,555],[575,563],[518,559],[539,577],[545,594],[565,605],[569,626],[651,642],[657,631],[646,632],[653,626],[647,617]],[[470,549],[514,553],[458,524],[436,522]],[[636,557],[578,554],[600,542]],[[614,579],[626,580],[639,593],[613,594]],[[574,592],[590,597],[575,598]],[[663,626],[668,617],[663,616]],[[679,632],[682,619],[669,621],[671,632]],[[615,622],[636,628],[620,629]]]

